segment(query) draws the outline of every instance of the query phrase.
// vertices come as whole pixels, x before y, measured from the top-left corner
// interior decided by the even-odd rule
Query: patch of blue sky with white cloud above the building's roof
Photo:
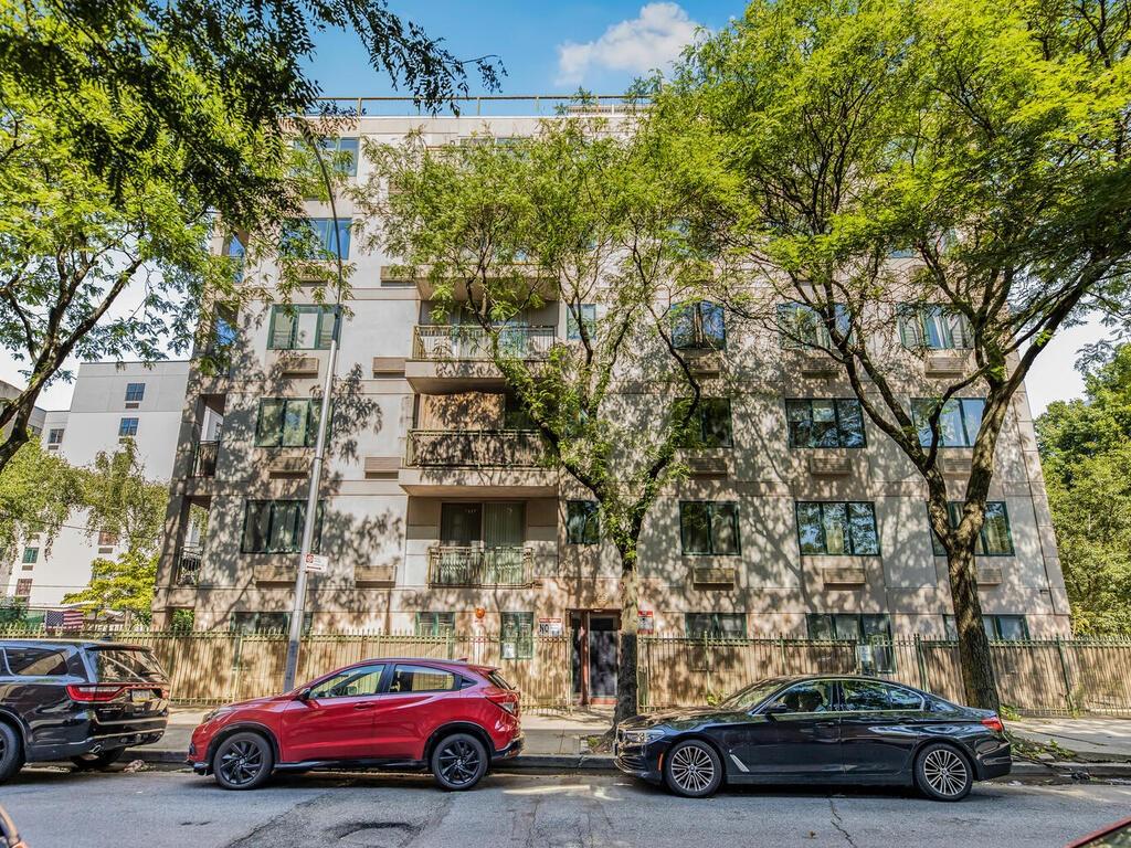
[[[743,8],[741,0],[390,2],[461,59],[499,54],[508,73],[502,94],[568,94],[579,85],[620,94],[639,73],[666,64],[696,25],[717,29]],[[397,94],[352,34],[323,33],[311,69],[327,96]],[[473,93],[483,93],[478,79],[472,81]]]

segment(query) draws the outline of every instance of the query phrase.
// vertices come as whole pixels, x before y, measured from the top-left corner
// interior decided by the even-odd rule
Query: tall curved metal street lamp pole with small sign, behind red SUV
[[[322,383],[322,412],[318,416],[318,439],[314,442],[314,460],[310,464],[310,491],[307,494],[307,514],[302,526],[302,546],[299,553],[299,572],[294,580],[294,607],[291,611],[291,630],[286,644],[286,666],[283,672],[283,691],[294,689],[294,678],[299,673],[299,647],[302,641],[302,621],[307,611],[307,555],[314,546],[314,527],[318,521],[318,494],[322,482],[322,457],[326,452],[326,432],[330,423],[330,393],[334,390],[334,372],[338,362],[338,338],[342,332],[342,233],[338,227],[338,211],[334,205],[334,188],[330,185],[330,174],[326,170],[318,139],[308,138],[318,166],[322,172],[322,183],[330,199],[330,216],[334,219],[334,243],[338,265],[338,293],[334,304],[334,334],[330,337],[330,358],[326,367],[326,380]]]

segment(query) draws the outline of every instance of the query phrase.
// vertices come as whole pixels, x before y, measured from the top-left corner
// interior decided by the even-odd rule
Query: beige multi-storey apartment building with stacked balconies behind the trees
[[[423,124],[429,144],[484,128],[535,129],[525,118],[363,118],[355,137],[397,141]],[[342,149],[357,149],[356,138]],[[356,178],[366,163],[356,163]],[[329,210],[309,215],[330,241]],[[352,217],[348,201],[338,204]],[[592,499],[539,462],[484,337],[433,309],[424,280],[398,279],[389,258],[344,241],[356,269],[340,334],[334,415],[318,518],[330,559],[311,576],[316,631],[498,634],[503,658],[534,633],[575,634],[579,693],[615,686],[619,563]],[[217,250],[227,245],[217,243]],[[303,298],[300,297],[300,304]],[[777,336],[728,327],[715,304],[680,341],[703,348],[710,398],[690,476],[665,492],[641,538],[645,632],[882,638],[952,630],[946,560],[927,525],[925,487],[877,431],[844,378],[820,355]],[[552,297],[512,328],[525,356],[576,334]],[[901,391],[916,408],[964,367],[961,328],[944,315],[901,315],[933,353],[908,358]],[[293,603],[318,395],[330,319],[257,304],[225,334],[231,367],[193,367],[171,488],[154,605],[196,628],[282,629]],[[917,335],[916,335],[917,334]],[[624,401],[631,408],[631,398]],[[968,470],[981,400],[946,414],[955,500]],[[207,422],[223,421],[223,435]],[[1026,397],[1018,395],[996,457],[978,574],[995,638],[1067,633],[1069,607]],[[207,535],[187,540],[195,512]],[[581,681],[584,680],[584,683]]]

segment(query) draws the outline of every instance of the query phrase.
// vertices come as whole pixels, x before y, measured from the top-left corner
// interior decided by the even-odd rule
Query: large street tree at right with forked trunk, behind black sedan
[[[748,274],[725,300],[831,357],[922,476],[979,707],[998,696],[975,550],[1005,416],[1059,330],[1128,303],[1129,12],[754,0],[658,97],[693,230]],[[914,357],[939,348],[966,353],[961,373],[924,383]],[[909,405],[915,380],[930,391]],[[955,444],[972,448],[957,487]]]

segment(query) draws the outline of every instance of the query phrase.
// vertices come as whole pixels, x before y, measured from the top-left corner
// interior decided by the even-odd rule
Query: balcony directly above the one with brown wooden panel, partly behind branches
[[[544,360],[556,341],[553,327],[515,326],[499,330],[504,355],[527,362]],[[417,326],[413,328],[413,355],[405,363],[405,379],[416,391],[447,392],[467,388],[503,388],[495,367],[492,334],[473,326]]]

